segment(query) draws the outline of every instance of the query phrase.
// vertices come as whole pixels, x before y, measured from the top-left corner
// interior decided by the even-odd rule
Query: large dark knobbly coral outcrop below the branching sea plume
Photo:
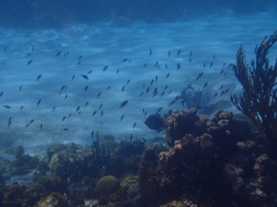
[[[276,205],[277,165],[266,139],[247,121],[222,110],[209,117],[191,108],[174,111],[164,122],[171,148],[156,158],[142,158],[140,165],[140,184],[142,189],[151,186],[150,200],[186,197],[204,206]],[[148,151],[147,157],[153,154]]]

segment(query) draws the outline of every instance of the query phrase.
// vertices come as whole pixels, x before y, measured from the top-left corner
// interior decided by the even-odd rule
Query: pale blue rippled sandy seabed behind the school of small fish
[[[235,93],[239,92],[242,87],[228,65],[235,63],[240,44],[247,60],[254,59],[256,44],[275,32],[276,18],[277,13],[207,17],[176,23],[136,22],[129,28],[103,22],[59,31],[1,28],[0,151],[23,145],[28,154],[38,155],[52,143],[90,146],[92,131],[94,138],[99,132],[100,142],[103,135],[129,139],[132,134],[150,143],[154,137],[165,137],[165,131],[147,128],[145,118],[158,107],[161,115],[168,110],[182,111],[182,100],[170,105],[182,89],[192,84],[194,90],[203,90],[206,82],[220,76],[222,70],[227,73],[216,87],[236,83]],[[275,45],[270,64],[275,64],[276,53]],[[66,89],[61,91],[63,85]],[[155,89],[158,93],[153,97]],[[121,108],[125,100],[129,102]],[[235,107],[228,110],[238,113]]]

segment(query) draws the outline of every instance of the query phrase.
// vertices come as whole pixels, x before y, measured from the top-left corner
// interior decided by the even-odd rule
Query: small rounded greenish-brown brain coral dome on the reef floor
[[[99,195],[110,195],[115,193],[120,188],[120,182],[116,177],[106,175],[99,179],[95,192]]]

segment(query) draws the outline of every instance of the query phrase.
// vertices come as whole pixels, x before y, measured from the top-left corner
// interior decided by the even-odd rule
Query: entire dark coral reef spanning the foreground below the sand
[[[277,205],[277,164],[266,136],[247,121],[223,110],[209,117],[186,108],[164,123],[170,147],[103,136],[93,147],[53,145],[48,158],[22,159],[19,146],[16,161],[37,161],[40,170],[47,161],[50,173],[30,184],[2,182],[3,206],[73,207],[88,199],[99,207]]]

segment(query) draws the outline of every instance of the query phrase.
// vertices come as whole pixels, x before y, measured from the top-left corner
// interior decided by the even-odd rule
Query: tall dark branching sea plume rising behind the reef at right
[[[243,85],[239,95],[232,95],[230,101],[243,112],[265,135],[277,143],[277,62],[269,65],[268,50],[277,41],[277,31],[256,45],[256,61],[245,61],[244,46],[237,51],[236,64],[233,70]]]

